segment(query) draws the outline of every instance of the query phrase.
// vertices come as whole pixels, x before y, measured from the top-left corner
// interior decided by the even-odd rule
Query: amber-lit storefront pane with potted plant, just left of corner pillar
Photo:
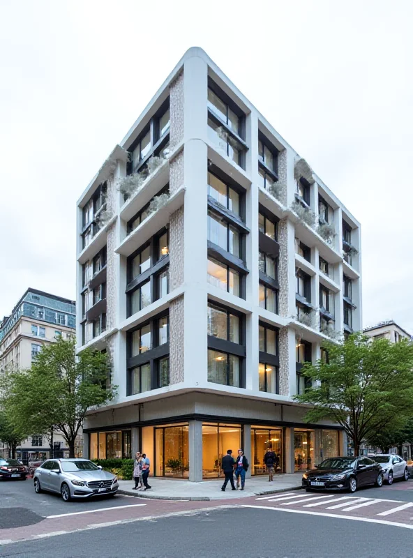
[[[155,428],[156,476],[189,477],[188,424]]]

